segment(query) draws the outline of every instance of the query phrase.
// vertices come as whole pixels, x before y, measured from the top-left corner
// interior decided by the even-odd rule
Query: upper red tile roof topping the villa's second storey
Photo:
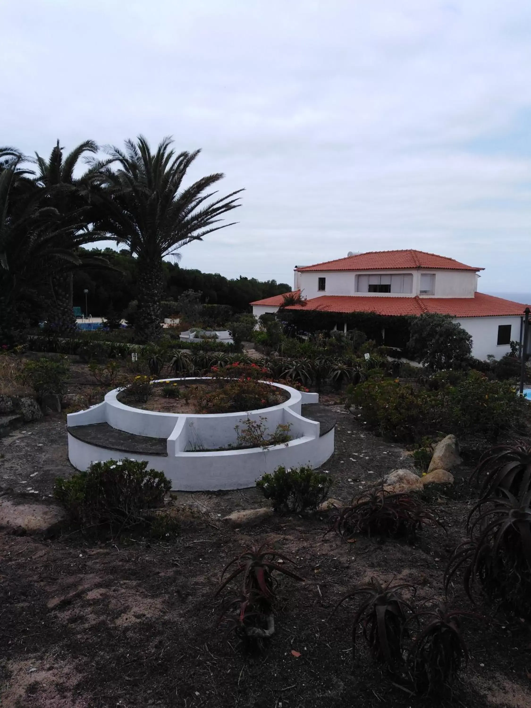
[[[426,251],[369,251],[359,253],[358,256],[338,258],[336,261],[325,261],[315,265],[301,265],[295,270],[301,273],[307,270],[412,270],[429,268],[430,270],[484,270],[474,268],[472,265],[459,263],[453,258],[436,256],[435,253]]]

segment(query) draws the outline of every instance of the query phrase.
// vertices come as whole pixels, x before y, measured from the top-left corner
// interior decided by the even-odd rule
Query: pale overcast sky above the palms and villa
[[[531,292],[529,0],[0,0],[0,144],[202,148],[239,223],[181,265],[415,248]],[[232,216],[231,215],[231,216]]]

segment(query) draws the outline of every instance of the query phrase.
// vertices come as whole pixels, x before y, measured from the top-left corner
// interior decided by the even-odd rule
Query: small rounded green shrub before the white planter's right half
[[[315,510],[328,496],[332,480],[311,467],[286,469],[277,467],[273,474],[264,474],[256,486],[275,511]]]

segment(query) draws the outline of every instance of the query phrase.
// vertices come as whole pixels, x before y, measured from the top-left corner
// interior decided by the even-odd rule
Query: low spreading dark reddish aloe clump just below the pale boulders
[[[425,524],[442,524],[437,516],[408,493],[390,494],[373,489],[353,499],[338,512],[331,530],[343,538],[367,534],[412,540]]]

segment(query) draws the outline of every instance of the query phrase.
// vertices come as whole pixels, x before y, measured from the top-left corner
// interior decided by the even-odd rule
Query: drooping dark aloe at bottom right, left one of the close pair
[[[411,585],[395,585],[390,583],[382,587],[381,583],[372,579],[370,585],[359,586],[339,600],[333,612],[339,605],[350,598],[362,597],[362,603],[354,615],[352,628],[352,658],[355,662],[356,635],[358,627],[369,646],[372,658],[384,663],[391,671],[396,671],[402,663],[402,641],[409,636],[407,622],[412,612],[411,605],[399,595],[403,588],[415,588]]]

